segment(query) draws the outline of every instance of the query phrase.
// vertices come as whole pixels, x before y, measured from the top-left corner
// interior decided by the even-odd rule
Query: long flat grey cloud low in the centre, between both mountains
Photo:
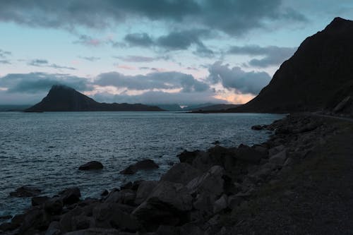
[[[210,88],[193,76],[178,72],[156,72],[138,76],[126,76],[116,72],[101,73],[94,84],[128,90],[181,89],[181,92],[203,92]]]

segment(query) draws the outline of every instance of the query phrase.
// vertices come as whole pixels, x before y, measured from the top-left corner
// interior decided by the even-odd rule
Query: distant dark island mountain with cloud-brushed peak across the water
[[[145,104],[100,103],[66,85],[53,85],[41,102],[25,109],[25,112],[56,111],[163,111],[163,109]]]

